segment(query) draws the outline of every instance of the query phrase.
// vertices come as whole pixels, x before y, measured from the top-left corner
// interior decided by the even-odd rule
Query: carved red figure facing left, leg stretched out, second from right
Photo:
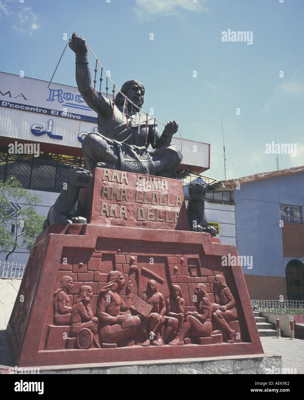
[[[186,336],[206,338],[212,334],[212,303],[208,296],[206,285],[203,283],[197,284],[194,294],[197,296],[197,311],[186,312],[177,338],[169,343],[171,346],[182,346]]]

